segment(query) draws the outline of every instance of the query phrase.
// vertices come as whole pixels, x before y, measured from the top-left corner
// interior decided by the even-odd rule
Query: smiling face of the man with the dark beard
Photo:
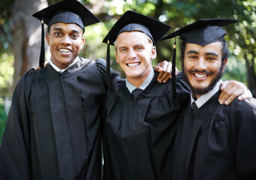
[[[183,71],[195,98],[200,98],[212,90],[220,80],[227,63],[227,59],[222,63],[221,55],[221,42],[209,43],[206,46],[186,43]]]

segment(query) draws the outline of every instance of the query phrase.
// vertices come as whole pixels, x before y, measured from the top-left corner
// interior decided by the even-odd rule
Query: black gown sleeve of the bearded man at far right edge
[[[256,99],[236,100],[227,119],[238,179],[256,179]]]

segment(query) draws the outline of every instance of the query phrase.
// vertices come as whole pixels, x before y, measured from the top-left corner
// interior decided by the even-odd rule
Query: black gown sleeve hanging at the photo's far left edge
[[[32,70],[33,71],[33,70]],[[30,179],[30,142],[28,101],[32,71],[14,89],[8,121],[0,147],[1,179]]]

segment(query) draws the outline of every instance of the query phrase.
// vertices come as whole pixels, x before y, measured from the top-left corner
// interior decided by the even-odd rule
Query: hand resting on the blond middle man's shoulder
[[[178,69],[176,69],[175,74],[177,75],[179,73]],[[172,63],[171,62],[160,62],[158,65],[154,67],[155,71],[158,71],[158,82],[159,83],[166,83],[167,80],[170,80],[171,74],[172,74]]]

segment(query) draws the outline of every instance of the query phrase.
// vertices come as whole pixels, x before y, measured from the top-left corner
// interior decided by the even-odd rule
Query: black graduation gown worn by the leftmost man
[[[75,179],[81,172],[101,179],[105,82],[104,60],[80,58],[62,74],[50,65],[25,74],[0,148],[0,179]]]

